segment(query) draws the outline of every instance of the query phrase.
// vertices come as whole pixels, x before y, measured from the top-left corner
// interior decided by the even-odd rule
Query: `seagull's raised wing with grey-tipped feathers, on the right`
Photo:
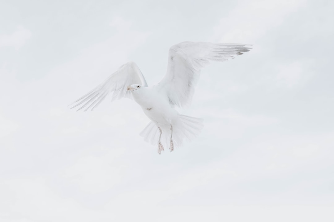
[[[169,49],[167,73],[159,83],[172,106],[191,103],[200,70],[210,61],[227,61],[248,52],[246,44],[182,42]]]

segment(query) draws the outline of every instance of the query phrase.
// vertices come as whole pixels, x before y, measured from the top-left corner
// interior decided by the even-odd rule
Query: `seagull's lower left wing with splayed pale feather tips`
[[[146,80],[134,62],[128,62],[122,65],[115,73],[113,73],[103,83],[93,89],[91,92],[76,100],[72,108],[80,106],[77,110],[85,108],[85,111],[97,107],[108,94],[112,95],[112,100],[129,97],[130,92],[127,91],[127,86],[140,84],[147,87]]]

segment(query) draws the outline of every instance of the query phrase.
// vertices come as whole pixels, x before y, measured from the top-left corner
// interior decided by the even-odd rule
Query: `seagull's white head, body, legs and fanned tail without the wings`
[[[158,153],[164,150],[162,144],[169,143],[170,151],[174,145],[181,145],[184,137],[196,136],[202,128],[199,118],[181,115],[170,104],[166,94],[158,86],[140,87],[140,85],[129,86],[132,90],[133,99],[142,108],[147,117],[152,121],[141,132],[146,141],[155,144],[158,141]],[[154,124],[152,124],[154,123]],[[153,127],[152,126],[157,126]],[[147,132],[145,132],[147,131]],[[174,132],[174,137],[172,134]]]

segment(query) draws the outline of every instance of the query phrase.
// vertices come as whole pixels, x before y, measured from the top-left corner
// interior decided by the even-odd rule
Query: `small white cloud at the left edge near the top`
[[[18,50],[30,37],[31,32],[28,29],[19,26],[16,31],[10,35],[0,35],[0,48],[14,47],[15,50]]]

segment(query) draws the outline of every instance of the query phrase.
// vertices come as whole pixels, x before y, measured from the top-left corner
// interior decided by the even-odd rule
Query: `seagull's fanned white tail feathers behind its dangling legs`
[[[182,145],[184,138],[187,138],[190,141],[201,132],[203,128],[203,119],[178,114],[177,117],[172,120],[172,126],[174,147],[179,147]],[[160,126],[160,128],[162,129],[161,143],[168,149],[170,144],[171,127],[170,125],[165,125]],[[158,145],[160,133],[158,126],[152,121],[149,122],[143,131],[141,131],[140,135],[144,137],[145,141],[152,145]]]

